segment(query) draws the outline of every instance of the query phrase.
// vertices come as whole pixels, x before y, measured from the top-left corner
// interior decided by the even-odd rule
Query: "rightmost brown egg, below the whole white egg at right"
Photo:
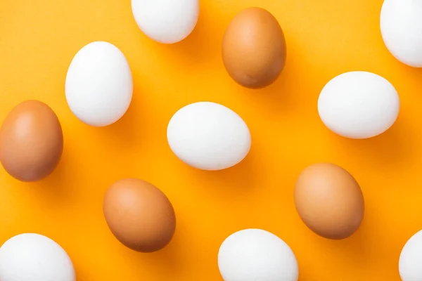
[[[329,239],[352,235],[364,218],[364,196],[357,181],[334,164],[313,164],[295,185],[300,218],[314,233]]]

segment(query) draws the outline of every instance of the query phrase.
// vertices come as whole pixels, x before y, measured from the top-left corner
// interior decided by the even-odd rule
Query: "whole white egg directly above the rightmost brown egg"
[[[399,115],[394,86],[371,72],[346,72],[322,89],[318,112],[331,131],[346,138],[371,138],[388,130]]]

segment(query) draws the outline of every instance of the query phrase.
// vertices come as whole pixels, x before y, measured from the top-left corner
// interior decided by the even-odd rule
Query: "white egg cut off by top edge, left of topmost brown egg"
[[[188,37],[195,28],[199,0],[132,0],[132,13],[146,36],[173,44]]]

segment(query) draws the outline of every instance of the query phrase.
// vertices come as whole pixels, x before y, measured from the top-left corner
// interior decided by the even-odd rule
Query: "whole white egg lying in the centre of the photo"
[[[167,126],[167,141],[181,161],[203,170],[241,162],[250,150],[250,131],[233,110],[218,103],[192,103],[177,111]]]

